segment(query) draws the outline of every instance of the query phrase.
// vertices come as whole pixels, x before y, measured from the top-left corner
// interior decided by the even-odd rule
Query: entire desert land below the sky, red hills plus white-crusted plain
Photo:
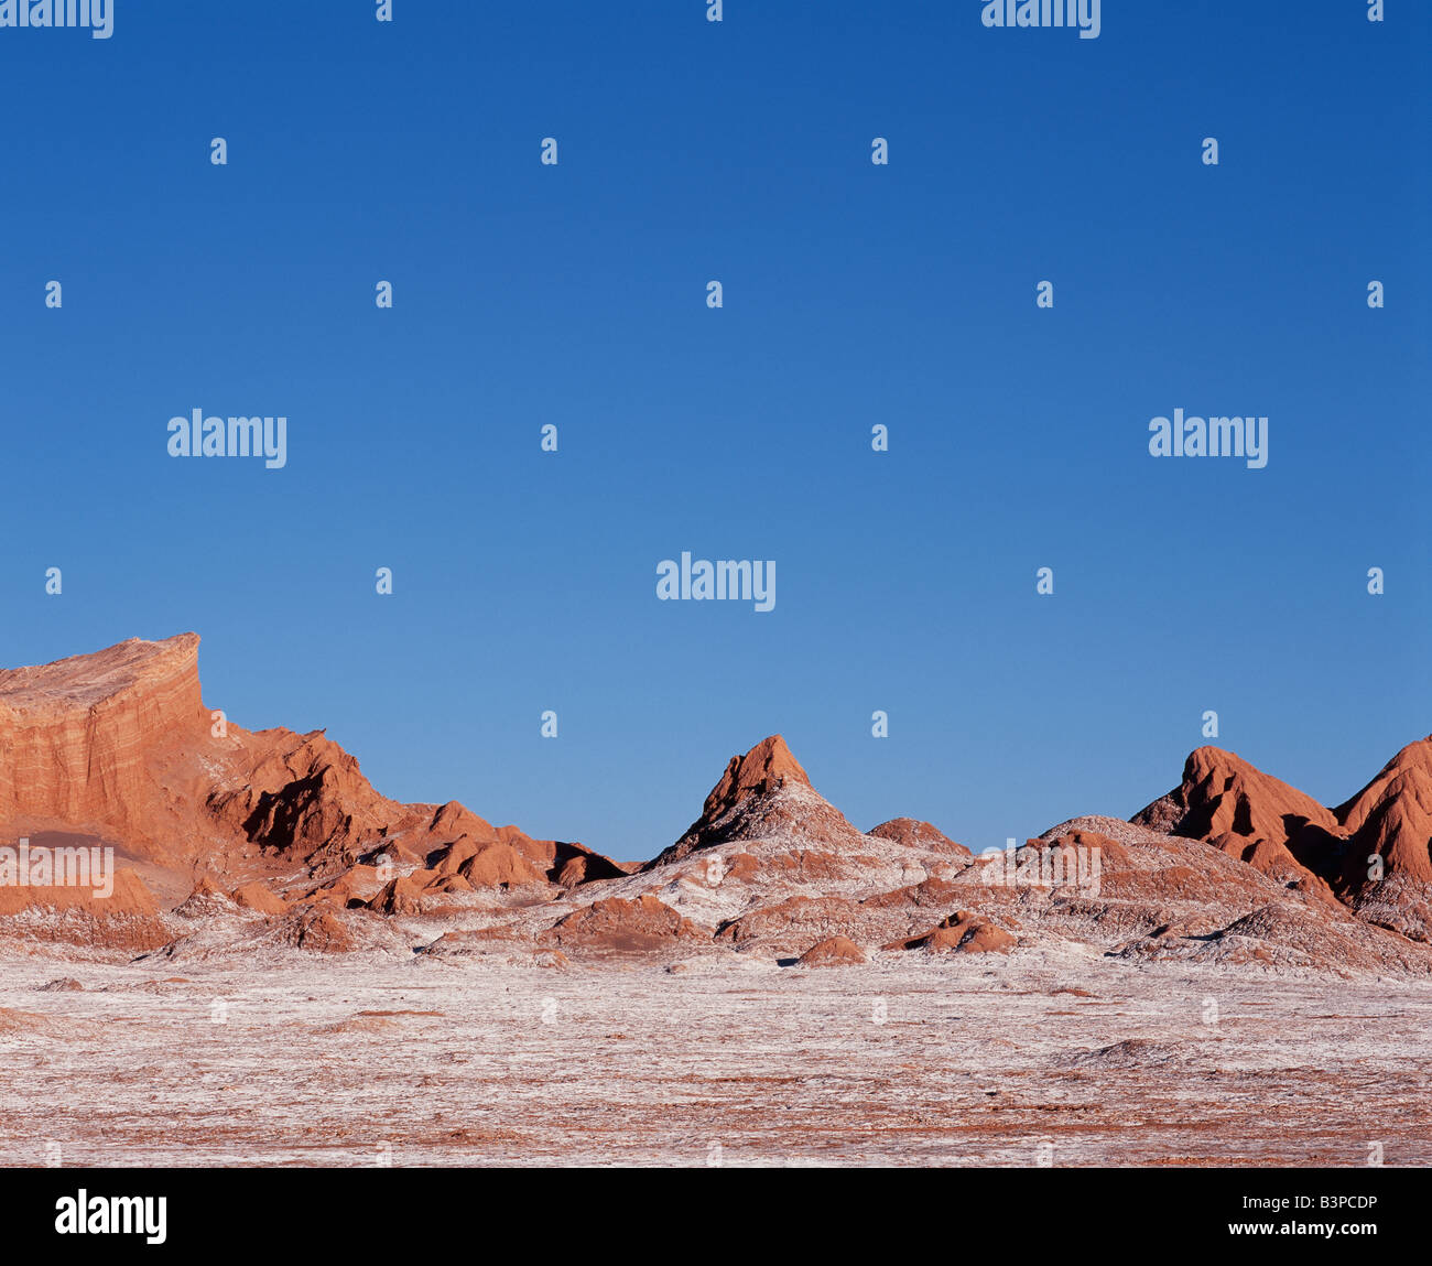
[[[1432,739],[975,856],[772,735],[617,862],[226,722],[198,649],[0,672],[3,1164],[1432,1163]]]

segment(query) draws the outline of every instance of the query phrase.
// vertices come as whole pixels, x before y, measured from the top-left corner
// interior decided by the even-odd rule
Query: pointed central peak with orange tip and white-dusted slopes
[[[726,772],[706,796],[702,816],[642,869],[652,871],[697,849],[736,839],[783,838],[825,846],[862,839],[845,815],[811,786],[786,740],[770,735],[745,755],[730,758]]]

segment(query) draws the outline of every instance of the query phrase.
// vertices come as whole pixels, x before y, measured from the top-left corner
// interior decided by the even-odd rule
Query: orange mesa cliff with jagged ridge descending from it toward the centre
[[[329,904],[371,895],[358,879],[378,858],[457,872],[471,889],[621,874],[581,845],[493,828],[455,802],[388,799],[321,730],[216,728],[193,633],[0,672],[0,844],[47,832],[117,845],[163,888],[215,875]],[[9,904],[59,912],[72,901],[17,888]]]

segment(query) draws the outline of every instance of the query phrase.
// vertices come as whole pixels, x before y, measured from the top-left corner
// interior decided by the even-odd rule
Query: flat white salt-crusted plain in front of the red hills
[[[180,971],[7,955],[0,1164],[1432,1164],[1416,981],[1080,947]]]

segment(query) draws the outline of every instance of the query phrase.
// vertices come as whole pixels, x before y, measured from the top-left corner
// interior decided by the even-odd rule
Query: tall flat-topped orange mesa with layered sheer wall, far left
[[[0,821],[53,818],[143,838],[153,750],[206,732],[195,633],[3,670]]]

